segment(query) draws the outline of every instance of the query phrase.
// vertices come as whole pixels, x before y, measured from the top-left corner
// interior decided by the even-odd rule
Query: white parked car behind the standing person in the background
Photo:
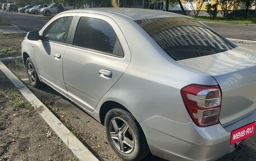
[[[64,11],[75,9],[74,6],[64,6],[62,3],[59,3],[58,5],[60,5]],[[48,7],[42,8],[40,10],[40,14],[43,14],[44,16],[51,16],[51,14],[58,13],[58,8],[60,7],[58,7],[55,3],[52,3]]]

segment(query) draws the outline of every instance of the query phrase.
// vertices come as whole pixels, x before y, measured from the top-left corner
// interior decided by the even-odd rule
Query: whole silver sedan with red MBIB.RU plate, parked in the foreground
[[[254,135],[256,53],[187,16],[62,12],[27,34],[22,58],[31,84],[102,123],[124,160],[215,160]]]

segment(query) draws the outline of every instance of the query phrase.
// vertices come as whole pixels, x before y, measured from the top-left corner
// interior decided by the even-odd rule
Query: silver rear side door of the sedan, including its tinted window
[[[130,63],[124,35],[106,16],[81,13],[63,58],[67,95],[93,111]]]

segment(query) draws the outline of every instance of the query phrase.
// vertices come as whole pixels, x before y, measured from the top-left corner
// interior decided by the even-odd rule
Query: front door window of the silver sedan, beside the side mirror
[[[53,42],[66,43],[73,17],[61,17],[52,22],[45,30],[43,39]]]

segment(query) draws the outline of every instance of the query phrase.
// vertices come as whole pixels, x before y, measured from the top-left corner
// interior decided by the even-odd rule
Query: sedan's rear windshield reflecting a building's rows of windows
[[[136,21],[176,61],[225,52],[235,47],[199,22],[180,17]]]

